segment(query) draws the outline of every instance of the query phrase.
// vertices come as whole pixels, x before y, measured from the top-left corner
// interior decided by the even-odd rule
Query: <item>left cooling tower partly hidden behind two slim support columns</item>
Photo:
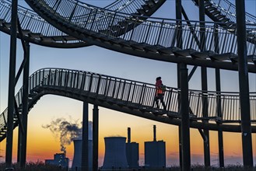
[[[93,168],[93,141],[88,140],[89,145],[89,170]],[[82,140],[74,140],[74,157],[72,162],[72,169],[81,170],[81,162],[82,162]]]

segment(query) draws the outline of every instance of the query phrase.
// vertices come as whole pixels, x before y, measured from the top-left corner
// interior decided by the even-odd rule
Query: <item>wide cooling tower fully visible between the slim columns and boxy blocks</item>
[[[128,169],[125,137],[106,137],[102,169]]]

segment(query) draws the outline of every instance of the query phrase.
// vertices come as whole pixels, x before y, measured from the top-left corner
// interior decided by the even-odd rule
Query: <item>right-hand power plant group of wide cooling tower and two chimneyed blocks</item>
[[[131,141],[131,128],[128,127],[128,140],[124,137],[106,137],[105,156],[102,169],[138,169],[139,143]],[[165,141],[156,141],[156,125],[153,126],[153,141],[145,142],[145,166],[150,169],[166,167]]]

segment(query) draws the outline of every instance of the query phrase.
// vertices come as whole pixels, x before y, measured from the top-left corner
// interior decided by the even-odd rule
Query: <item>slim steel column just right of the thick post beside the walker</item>
[[[199,19],[200,19],[200,49],[205,51],[205,2],[204,0],[199,0]],[[201,80],[202,80],[202,92],[207,92],[207,68],[201,68]],[[208,117],[208,99],[207,96],[203,95],[203,117]],[[204,120],[207,122],[206,120]],[[205,137],[208,141],[204,141],[204,157],[205,157],[205,167],[210,166],[210,145],[209,145],[209,130],[204,130]]]

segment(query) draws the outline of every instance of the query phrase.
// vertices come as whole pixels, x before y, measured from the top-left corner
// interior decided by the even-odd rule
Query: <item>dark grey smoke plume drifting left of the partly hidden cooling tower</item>
[[[89,121],[89,134],[88,139],[92,139],[93,122]],[[58,118],[51,120],[51,124],[42,125],[42,127],[50,129],[55,138],[59,138],[61,143],[61,152],[66,152],[66,145],[70,145],[74,139],[82,139],[82,122],[67,121],[65,118]]]

